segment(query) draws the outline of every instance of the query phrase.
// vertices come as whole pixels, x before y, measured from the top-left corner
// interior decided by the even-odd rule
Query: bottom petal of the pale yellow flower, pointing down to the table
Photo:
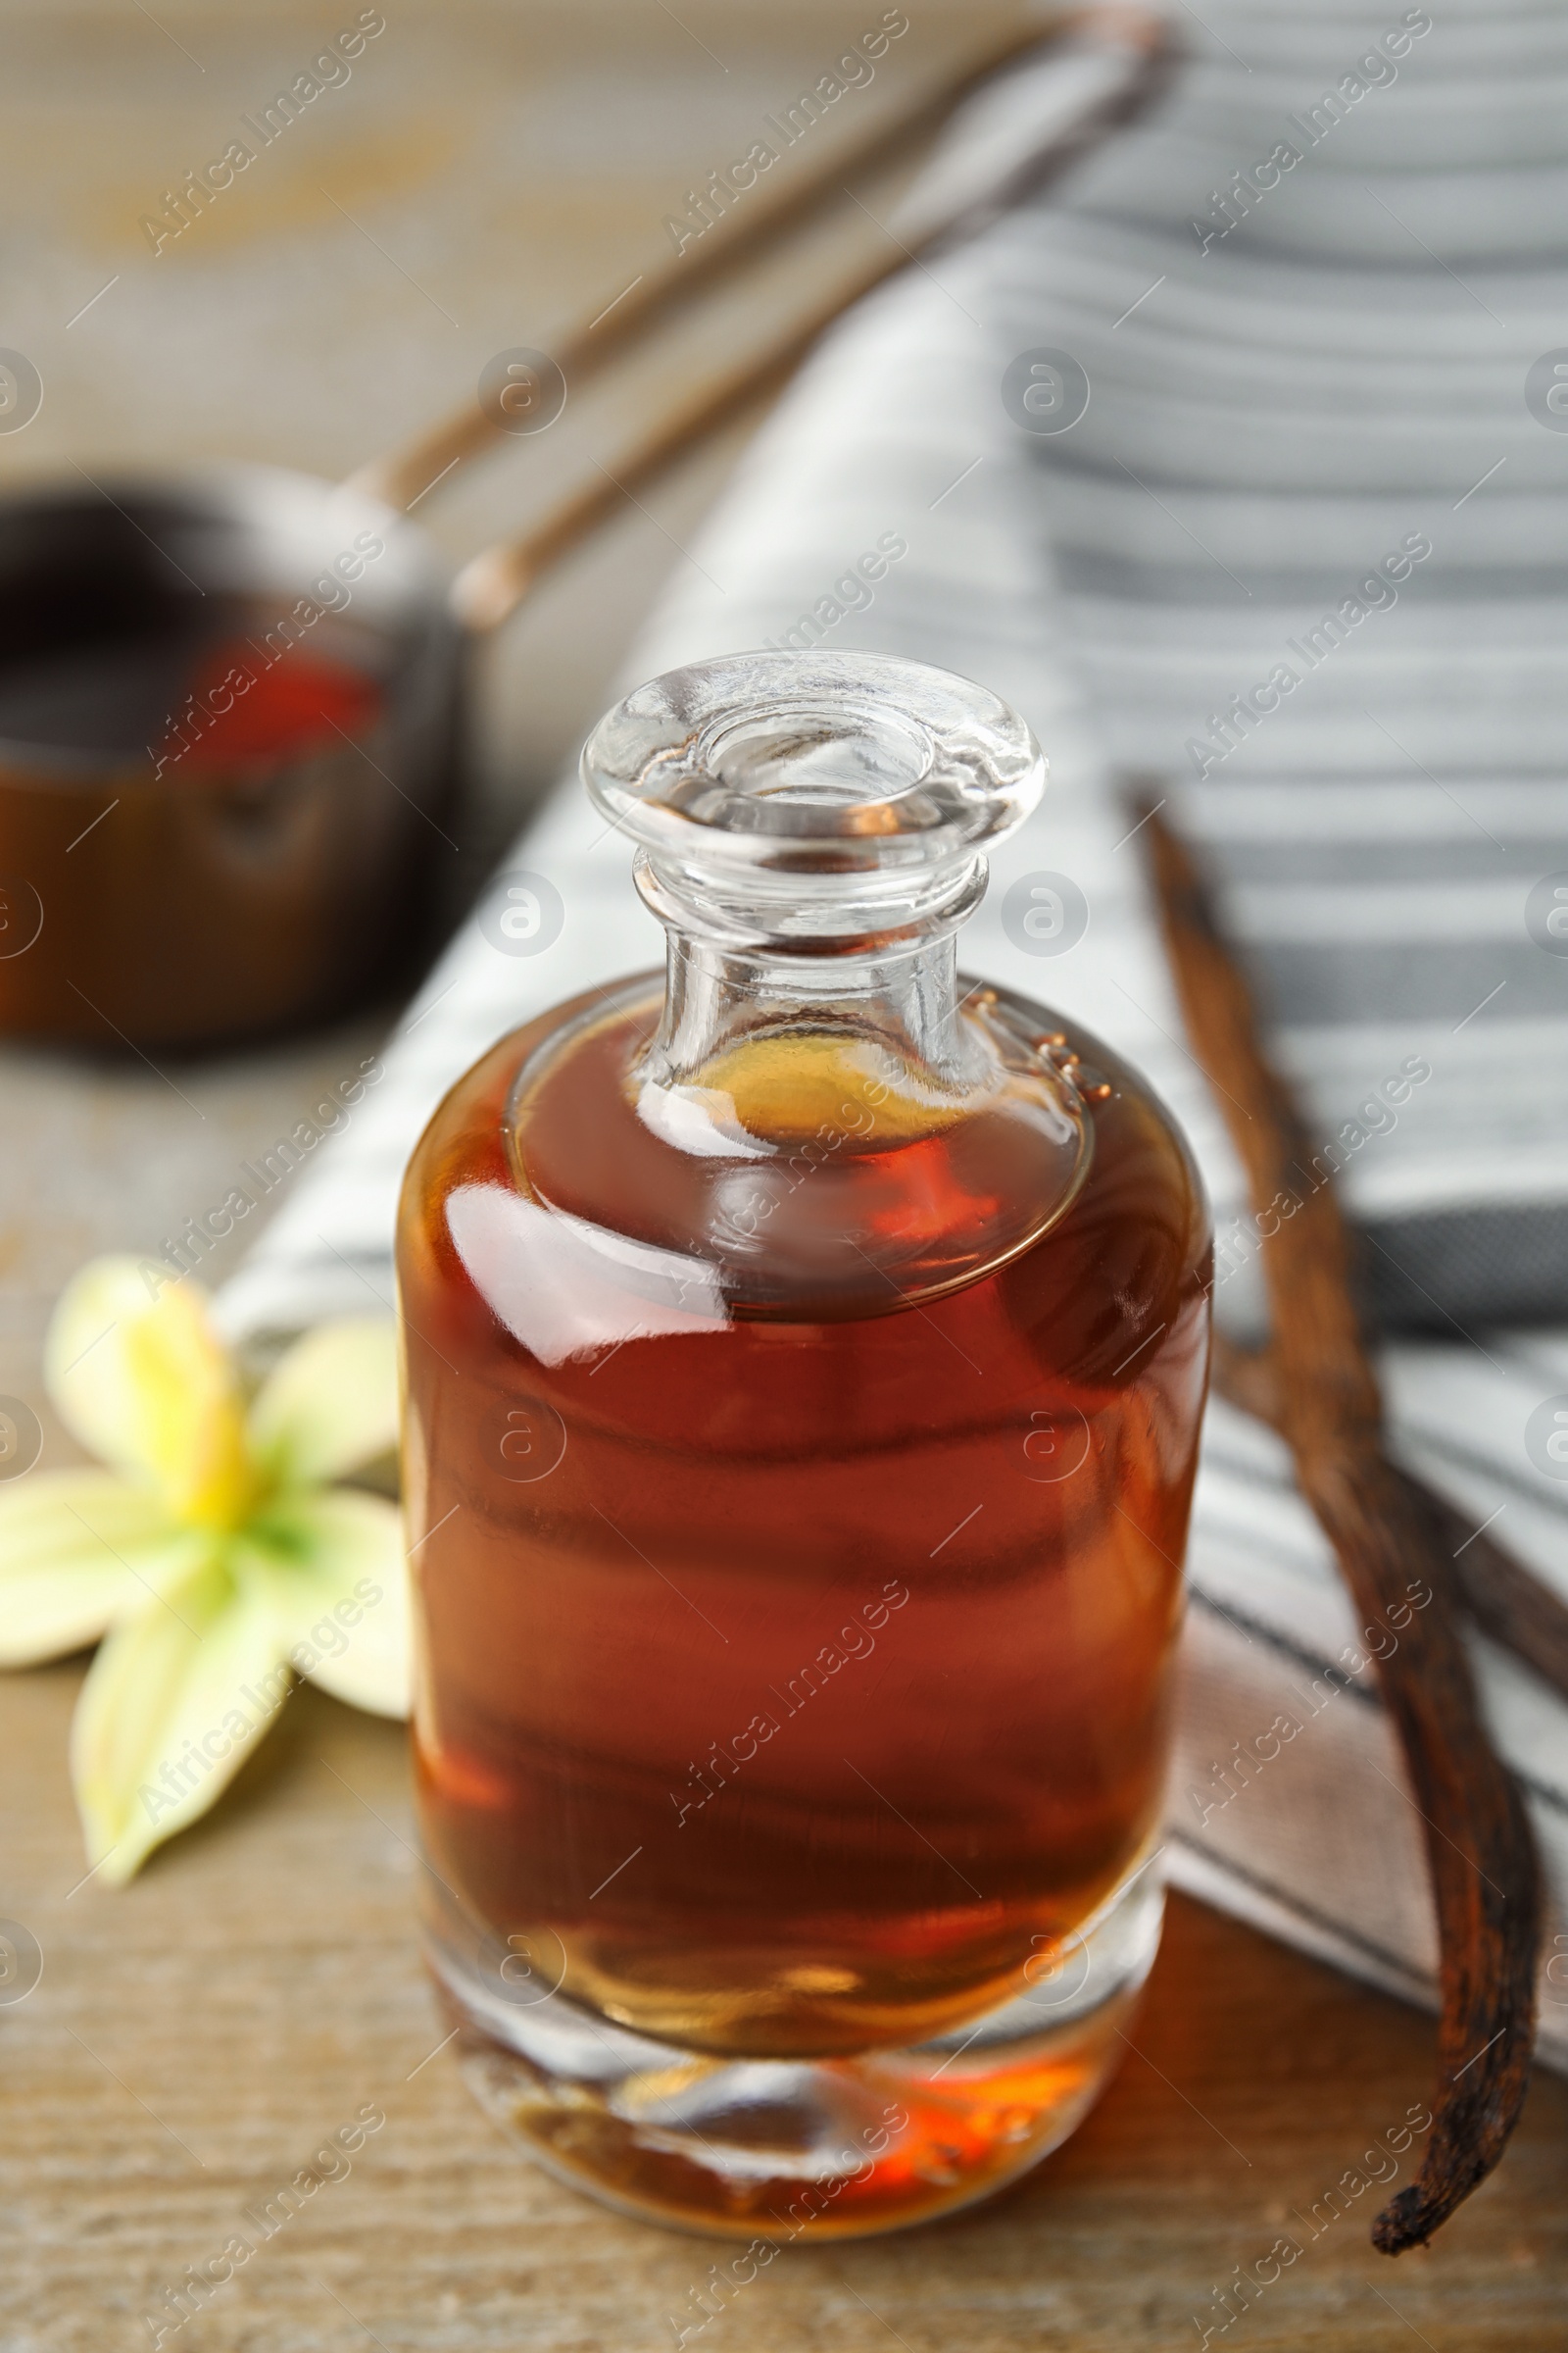
[[[259,1581],[221,1551],[108,1635],[71,1727],[87,1857],[125,1887],[153,1847],[205,1814],[289,1692]]]

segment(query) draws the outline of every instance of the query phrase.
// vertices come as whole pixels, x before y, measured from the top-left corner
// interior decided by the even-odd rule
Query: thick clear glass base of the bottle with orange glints
[[[1161,1918],[1145,1864],[1041,1984],[853,2059],[686,2052],[562,1993],[510,1998],[442,1922],[428,1951],[480,2106],[545,2172],[642,2221],[790,2245],[952,2214],[1058,2148],[1121,2059]]]

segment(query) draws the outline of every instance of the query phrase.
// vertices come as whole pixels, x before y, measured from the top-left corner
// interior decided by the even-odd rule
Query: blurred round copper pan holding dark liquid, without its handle
[[[350,725],[214,755],[183,696],[237,642],[273,685],[357,682]],[[233,466],[0,501],[0,1033],[207,1047],[388,981],[451,856],[461,671],[430,541],[357,492]]]

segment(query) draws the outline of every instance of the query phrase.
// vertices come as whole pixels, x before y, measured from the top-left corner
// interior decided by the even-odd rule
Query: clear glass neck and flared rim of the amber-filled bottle
[[[933,1111],[994,1082],[952,936],[1046,762],[985,687],[898,654],[722,654],[616,704],[583,776],[670,934],[644,1080],[705,1085],[755,1040],[750,1071],[823,1089],[835,1056],[884,1054]]]

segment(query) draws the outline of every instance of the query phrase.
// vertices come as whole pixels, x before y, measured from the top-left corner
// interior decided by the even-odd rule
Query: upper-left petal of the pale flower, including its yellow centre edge
[[[45,1379],[73,1435],[181,1518],[226,1527],[249,1504],[240,1381],[197,1282],[92,1259],[54,1311]]]

